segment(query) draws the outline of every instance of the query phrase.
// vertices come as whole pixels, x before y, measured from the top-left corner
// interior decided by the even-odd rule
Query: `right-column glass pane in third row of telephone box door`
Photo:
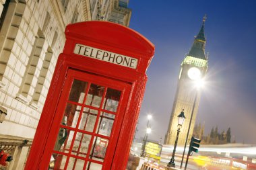
[[[94,137],[93,148],[90,153],[90,159],[103,162],[108,147],[108,139]]]

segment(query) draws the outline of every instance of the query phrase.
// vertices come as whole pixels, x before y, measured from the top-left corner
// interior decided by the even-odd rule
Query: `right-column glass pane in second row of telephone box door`
[[[105,112],[102,112],[100,114],[100,121],[99,126],[97,127],[98,134],[102,134],[104,136],[110,136],[112,127],[114,124],[115,115],[114,114],[108,114]]]

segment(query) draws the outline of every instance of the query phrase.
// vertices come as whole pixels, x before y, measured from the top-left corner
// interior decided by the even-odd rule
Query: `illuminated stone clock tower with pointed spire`
[[[188,139],[190,139],[193,134],[200,99],[200,91],[195,87],[195,84],[203,79],[207,71],[207,56],[205,56],[206,39],[204,35],[205,19],[206,17],[203,17],[201,30],[199,34],[195,36],[189,53],[181,63],[177,91],[172,106],[168,130],[164,138],[164,144],[174,144],[178,130],[178,116],[183,109],[186,119],[179,134],[178,145],[185,144],[191,116],[192,120]]]

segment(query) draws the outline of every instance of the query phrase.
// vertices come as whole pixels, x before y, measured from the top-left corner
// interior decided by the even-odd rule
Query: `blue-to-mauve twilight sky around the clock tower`
[[[197,122],[205,122],[205,134],[230,127],[232,140],[256,144],[256,1],[130,0],[129,8],[129,27],[156,46],[136,138],[144,136],[150,113],[150,139],[164,140],[180,65],[206,13],[209,60]]]

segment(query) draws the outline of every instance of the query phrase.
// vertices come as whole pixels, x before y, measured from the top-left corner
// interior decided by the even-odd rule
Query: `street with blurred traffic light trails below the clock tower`
[[[141,143],[134,143],[133,148],[137,148],[137,151],[132,150],[131,153],[138,155],[139,147]],[[162,148],[161,159],[158,163],[159,167],[166,167],[170,162],[173,146],[164,145]],[[174,163],[176,168],[180,168],[182,159],[183,147],[177,147],[177,153],[174,156]],[[189,170],[255,170],[256,163],[256,147],[245,144],[229,144],[220,146],[201,146],[199,153],[193,153],[189,157],[187,169]],[[185,169],[187,153],[183,160],[183,167]],[[146,157],[145,161],[157,162],[156,160]],[[141,168],[141,167],[138,167]]]

